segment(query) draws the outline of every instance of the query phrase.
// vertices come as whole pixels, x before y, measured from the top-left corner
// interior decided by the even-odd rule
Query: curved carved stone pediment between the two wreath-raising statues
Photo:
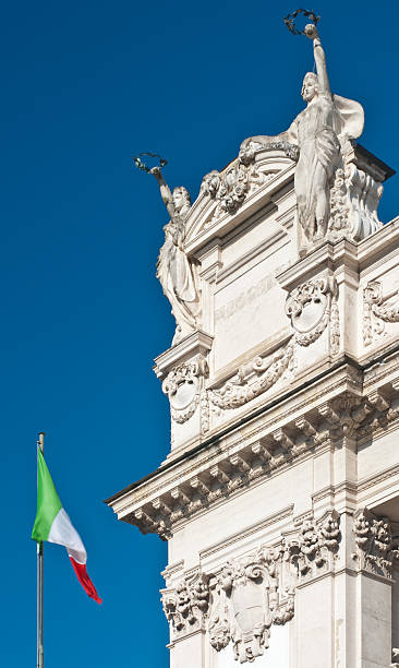
[[[249,216],[249,208],[264,206],[292,179],[294,165],[285,151],[261,147],[250,159],[238,156],[221,171],[207,174],[186,218],[186,252],[195,252],[210,237],[222,237]]]

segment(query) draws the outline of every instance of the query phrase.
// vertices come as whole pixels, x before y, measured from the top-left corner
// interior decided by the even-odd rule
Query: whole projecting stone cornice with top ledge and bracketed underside
[[[275,406],[252,410],[107,503],[123,522],[168,539],[194,515],[226,503],[295,461],[323,448],[334,450],[342,439],[378,438],[398,418],[399,374],[382,379],[380,385],[374,379],[368,396],[361,370],[344,362]]]

